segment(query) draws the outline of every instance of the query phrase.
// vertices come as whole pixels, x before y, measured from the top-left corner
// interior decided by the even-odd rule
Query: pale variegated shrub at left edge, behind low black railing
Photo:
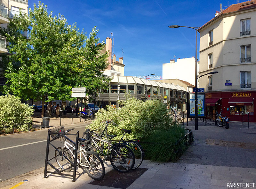
[[[0,96],[0,127],[23,124],[32,121],[33,110],[32,107],[28,107],[27,104],[22,104],[19,97],[12,95]],[[20,125],[19,131],[27,131],[28,125]],[[4,128],[0,128],[0,131],[5,131]],[[6,129],[9,132],[9,129]]]

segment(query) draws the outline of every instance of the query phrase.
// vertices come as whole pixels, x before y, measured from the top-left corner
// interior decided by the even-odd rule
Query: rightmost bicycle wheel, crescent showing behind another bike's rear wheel
[[[134,154],[135,163],[134,163],[132,170],[135,170],[138,167],[140,167],[140,165],[143,161],[144,150],[143,150],[142,146],[140,146],[140,144],[136,141],[125,141],[125,143],[128,144],[128,147],[131,148],[131,150]]]

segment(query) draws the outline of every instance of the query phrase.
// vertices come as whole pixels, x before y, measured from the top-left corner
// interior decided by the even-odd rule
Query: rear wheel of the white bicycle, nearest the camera
[[[84,167],[84,169],[89,177],[93,178],[94,180],[101,180],[104,177],[105,166],[100,157],[94,152],[85,152],[82,156],[82,163],[83,165],[87,166]]]

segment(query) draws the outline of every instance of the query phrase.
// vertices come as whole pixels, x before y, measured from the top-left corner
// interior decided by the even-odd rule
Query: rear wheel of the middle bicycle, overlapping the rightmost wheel
[[[119,172],[131,170],[135,163],[135,157],[131,148],[120,145],[112,149],[110,153],[110,163]]]

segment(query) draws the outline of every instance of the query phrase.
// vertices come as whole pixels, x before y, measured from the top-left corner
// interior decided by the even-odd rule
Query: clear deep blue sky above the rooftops
[[[69,24],[87,32],[94,26],[98,37],[105,41],[113,32],[114,54],[124,58],[124,75],[137,76],[156,73],[162,76],[162,64],[174,56],[195,56],[195,30],[169,28],[169,25],[197,27],[214,17],[216,11],[226,9],[237,0],[191,0],[191,1],[103,1],[103,0],[42,0],[48,12],[64,15]],[[239,3],[244,0],[239,0]],[[33,9],[36,0],[28,0]],[[124,54],[122,55],[122,49]],[[199,49],[199,33],[198,33]],[[176,60],[175,59],[175,60]],[[199,53],[198,53],[199,59]],[[200,59],[199,59],[200,60]],[[181,68],[184,69],[184,68]]]

